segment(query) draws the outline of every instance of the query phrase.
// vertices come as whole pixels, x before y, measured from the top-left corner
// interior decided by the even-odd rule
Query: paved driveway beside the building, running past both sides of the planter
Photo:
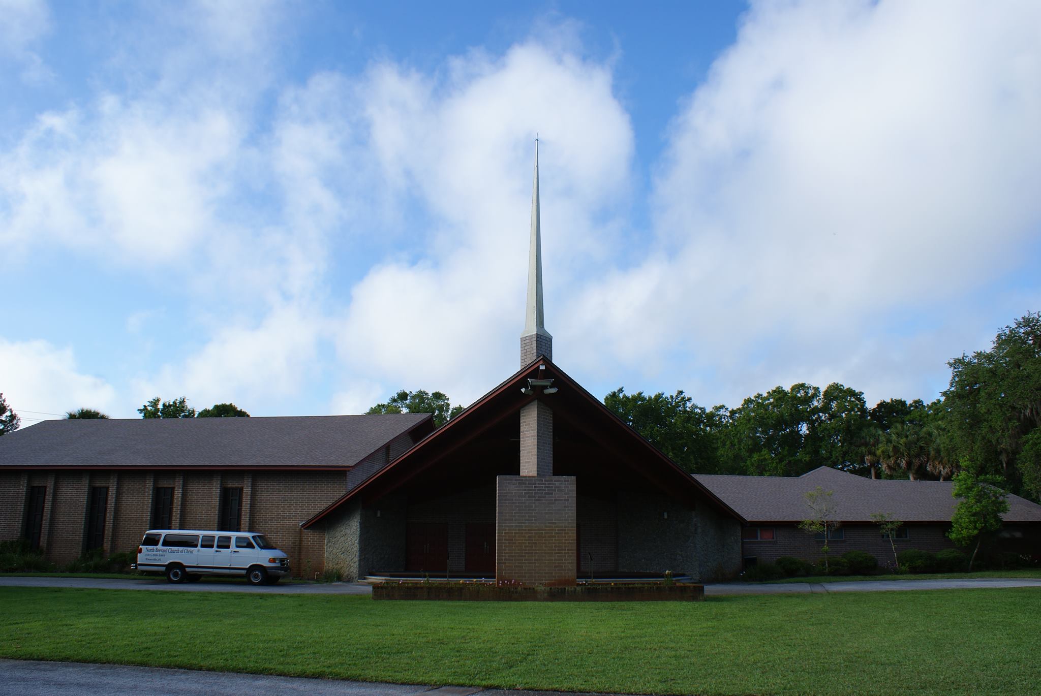
[[[182,583],[161,578],[127,577],[10,577],[0,576],[2,587],[73,587],[96,590],[176,590],[178,592],[258,592],[262,594],[371,594],[372,588],[358,583],[288,583],[247,585],[246,581]],[[705,594],[826,594],[832,592],[894,592],[902,590],[960,590],[966,588],[1041,587],[1035,577],[976,577],[969,579],[858,581],[852,583],[712,583]]]

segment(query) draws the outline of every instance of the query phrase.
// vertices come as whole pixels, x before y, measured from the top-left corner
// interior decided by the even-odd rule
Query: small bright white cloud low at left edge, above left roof
[[[23,416],[23,427],[31,419],[58,417],[47,414],[84,407],[118,415],[109,411],[116,404],[116,390],[104,379],[81,372],[72,347],[0,338],[0,389],[7,405]]]

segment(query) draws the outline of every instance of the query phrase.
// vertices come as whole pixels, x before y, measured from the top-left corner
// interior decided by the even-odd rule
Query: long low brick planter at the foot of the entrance
[[[702,585],[583,585],[579,587],[497,587],[479,583],[384,583],[373,599],[448,601],[701,601]]]

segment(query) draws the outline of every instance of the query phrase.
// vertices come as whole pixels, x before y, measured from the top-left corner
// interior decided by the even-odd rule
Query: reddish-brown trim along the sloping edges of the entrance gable
[[[667,466],[668,469],[670,469],[670,471],[674,474],[676,474],[675,478],[677,480],[677,485],[680,485],[680,486],[682,486],[682,485],[692,485],[694,490],[696,490],[700,493],[702,493],[713,505],[715,505],[718,509],[722,510],[726,514],[734,517],[735,519],[737,519],[739,521],[742,521],[742,522],[745,521],[744,518],[741,517],[737,513],[737,511],[735,511],[729,505],[727,505],[726,502],[723,502],[722,499],[720,499],[717,495],[715,495],[711,490],[709,490],[700,481],[697,481],[696,479],[694,479],[693,476],[691,476],[689,473],[687,473],[686,471],[684,471],[682,468],[680,468],[676,464],[676,462],[674,462],[668,457],[666,457],[660,449],[658,449],[653,444],[651,444],[650,442],[648,442],[646,439],[644,439],[639,433],[637,433],[635,430],[633,430],[632,427],[630,427],[627,422],[625,422],[624,420],[621,420],[621,418],[619,418],[616,414],[614,414],[610,409],[608,409],[606,406],[604,406],[604,404],[599,398],[596,398],[591,393],[589,393],[582,385],[580,385],[570,376],[568,376],[566,372],[564,372],[564,370],[560,369],[560,367],[558,367],[552,360],[550,360],[549,358],[545,358],[544,356],[538,356],[535,360],[531,361],[530,363],[528,363],[527,365],[525,365],[524,367],[522,367],[518,371],[514,372],[507,380],[505,380],[504,382],[500,383],[497,387],[494,387],[491,391],[487,392],[484,396],[482,396],[479,399],[477,399],[476,402],[474,402],[474,404],[472,404],[469,407],[467,407],[458,416],[456,416],[455,418],[453,418],[452,420],[450,420],[449,422],[445,423],[439,429],[437,429],[436,431],[434,431],[433,433],[431,433],[430,435],[428,435],[426,438],[424,438],[423,440],[421,440],[420,442],[417,442],[415,445],[413,445],[407,452],[403,453],[393,462],[390,462],[388,465],[386,465],[385,467],[383,467],[382,469],[380,469],[379,471],[377,471],[376,473],[374,473],[372,476],[370,476],[369,479],[366,479],[364,482],[362,482],[361,484],[359,484],[355,488],[352,488],[350,491],[348,491],[347,493],[345,493],[344,495],[341,495],[339,498],[337,498],[335,501],[333,501],[332,504],[330,504],[329,506],[327,506],[324,510],[322,510],[318,514],[315,514],[312,517],[310,517],[309,519],[306,519],[303,522],[301,522],[300,526],[303,527],[303,529],[310,527],[311,525],[313,525],[314,523],[319,522],[324,517],[326,517],[328,514],[330,514],[331,512],[333,512],[334,510],[336,510],[339,506],[344,505],[345,502],[347,502],[351,498],[355,497],[356,495],[361,494],[364,491],[365,488],[367,488],[370,486],[373,486],[375,483],[379,482],[383,476],[388,475],[399,465],[400,462],[402,462],[403,460],[405,460],[405,459],[407,459],[409,457],[412,457],[414,455],[414,453],[418,452],[423,447],[429,446],[429,443],[431,441],[433,441],[434,438],[441,437],[445,433],[451,432],[452,428],[459,428],[459,423],[460,422],[465,422],[465,418],[467,416],[471,416],[473,413],[477,412],[482,406],[484,406],[485,404],[489,403],[490,401],[492,401],[493,398],[496,398],[497,396],[499,396],[500,394],[502,394],[507,389],[516,388],[517,384],[519,383],[519,381],[522,379],[525,379],[528,376],[529,372],[531,372],[538,365],[543,364],[543,363],[545,365],[548,365],[549,367],[552,367],[552,371],[554,373],[554,377],[559,377],[562,382],[564,382],[569,388],[572,388],[575,391],[576,394],[578,394],[580,397],[582,397],[583,399],[585,399],[588,405],[590,405],[594,409],[599,410],[601,412],[601,414],[609,416],[610,419],[613,420],[613,422],[616,426],[620,427],[621,432],[625,432],[625,433],[628,434],[628,436],[630,438],[630,442],[632,442],[634,444],[634,446],[641,447],[641,448],[644,448],[646,450],[650,450],[651,454],[653,454],[659,461],[661,461],[663,464],[665,464],[665,466]],[[525,404],[533,401],[534,398],[535,398],[535,396],[531,395],[531,396],[528,396],[528,397],[522,399],[520,402],[518,402],[518,407],[523,407]],[[511,413],[512,413],[512,411],[511,411]],[[498,422],[498,420],[493,421],[493,422]],[[486,430],[489,427],[490,427],[490,424],[486,424],[479,432],[483,432],[484,430]],[[466,441],[468,441],[469,439],[471,438],[467,438]],[[465,443],[465,441],[462,442],[462,443],[457,443],[456,445],[454,445],[452,447],[452,449],[450,449],[450,452],[458,448],[458,446],[461,446],[461,444],[464,444],[464,443]],[[439,460],[439,459],[441,459],[443,457],[445,457],[445,455],[442,454],[440,457],[438,457],[435,460],[433,460],[430,465],[432,465],[433,463],[436,463],[437,460]],[[421,471],[425,470],[426,468],[427,467],[423,467],[422,469],[417,469],[416,471],[409,472],[409,474],[408,474],[407,478],[411,479],[412,476],[416,475],[417,473],[420,473]],[[686,484],[684,484],[683,482],[686,482]]]

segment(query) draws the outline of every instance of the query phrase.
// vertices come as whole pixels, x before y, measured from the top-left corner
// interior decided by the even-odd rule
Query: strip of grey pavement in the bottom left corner
[[[373,684],[338,679],[200,672],[161,667],[84,665],[68,662],[0,660],[0,695],[116,696],[118,694],[177,694],[178,696],[560,696],[555,692],[500,691],[474,687],[430,687]],[[576,694],[575,696],[582,696]],[[590,696],[590,695],[586,695]],[[603,696],[600,694],[598,696]]]

